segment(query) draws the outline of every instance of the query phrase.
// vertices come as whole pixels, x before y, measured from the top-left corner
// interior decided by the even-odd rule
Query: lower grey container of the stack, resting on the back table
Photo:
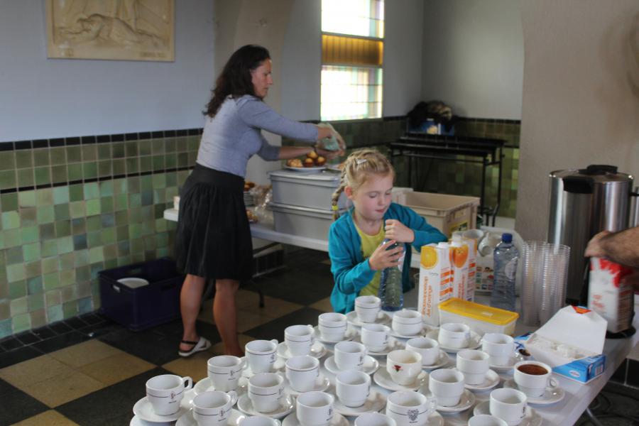
[[[273,212],[275,231],[327,241],[328,231],[333,223],[331,210],[310,209],[275,202],[269,203],[267,208]]]

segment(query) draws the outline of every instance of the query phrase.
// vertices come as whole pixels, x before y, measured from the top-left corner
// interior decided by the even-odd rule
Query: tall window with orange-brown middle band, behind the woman
[[[383,0],[322,0],[322,121],[382,116]]]

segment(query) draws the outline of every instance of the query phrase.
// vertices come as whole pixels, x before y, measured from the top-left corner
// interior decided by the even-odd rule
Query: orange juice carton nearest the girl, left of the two
[[[422,246],[420,282],[417,284],[417,310],[427,324],[439,326],[440,302],[451,294],[450,247],[447,243]]]

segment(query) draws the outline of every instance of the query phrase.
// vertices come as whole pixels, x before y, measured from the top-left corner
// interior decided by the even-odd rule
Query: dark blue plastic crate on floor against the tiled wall
[[[129,288],[121,278],[144,278],[148,285]],[[138,331],[180,317],[180,290],[184,275],[170,258],[134,263],[99,273],[100,312],[125,327]]]

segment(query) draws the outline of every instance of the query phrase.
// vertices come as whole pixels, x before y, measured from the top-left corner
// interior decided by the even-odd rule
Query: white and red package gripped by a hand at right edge
[[[588,307],[608,322],[608,332],[630,328],[633,315],[633,287],[623,278],[630,268],[604,258],[590,258]]]

